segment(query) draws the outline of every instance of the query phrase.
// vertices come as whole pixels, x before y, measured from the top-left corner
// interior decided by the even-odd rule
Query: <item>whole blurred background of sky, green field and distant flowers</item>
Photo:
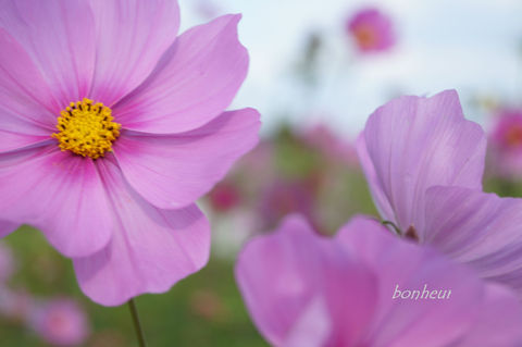
[[[200,201],[213,225],[209,265],[166,294],[137,299],[150,346],[266,346],[234,281],[237,252],[288,213],[304,214],[324,235],[355,213],[374,214],[353,142],[393,97],[457,89],[467,117],[489,134],[486,190],[522,195],[521,1],[179,4],[182,30],[244,14],[250,72],[233,108],[259,109],[263,129],[260,145]],[[368,9],[378,18],[348,28]],[[388,45],[369,49],[383,36]],[[137,343],[128,308],[90,302],[71,262],[23,226],[0,241],[0,345]]]

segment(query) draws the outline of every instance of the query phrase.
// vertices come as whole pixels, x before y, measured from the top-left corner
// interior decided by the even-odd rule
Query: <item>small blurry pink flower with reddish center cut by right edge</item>
[[[489,166],[495,175],[522,178],[522,110],[498,112],[488,145]]]

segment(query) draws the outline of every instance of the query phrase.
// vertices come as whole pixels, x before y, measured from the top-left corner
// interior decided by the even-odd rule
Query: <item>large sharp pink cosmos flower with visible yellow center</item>
[[[176,37],[175,0],[0,7],[0,220],[41,230],[102,305],[198,271],[195,201],[258,140],[257,111],[224,112],[247,74],[240,15]]]

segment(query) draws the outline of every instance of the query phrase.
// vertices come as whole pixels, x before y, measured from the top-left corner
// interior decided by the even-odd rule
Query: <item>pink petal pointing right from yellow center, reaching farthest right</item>
[[[201,128],[157,136],[126,132],[114,153],[136,191],[161,209],[188,206],[224,177],[258,141],[259,113],[225,112]]]

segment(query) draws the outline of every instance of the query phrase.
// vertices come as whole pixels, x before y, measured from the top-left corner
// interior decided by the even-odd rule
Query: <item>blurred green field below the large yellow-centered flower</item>
[[[85,346],[137,346],[128,307],[107,308],[87,299],[76,284],[71,261],[39,232],[23,226],[5,240],[18,260],[12,288],[79,301],[94,331]],[[169,293],[144,295],[136,302],[150,346],[268,346],[248,318],[228,261],[213,258],[204,270]],[[0,336],[1,346],[48,346],[23,324],[7,320],[0,320]]]

